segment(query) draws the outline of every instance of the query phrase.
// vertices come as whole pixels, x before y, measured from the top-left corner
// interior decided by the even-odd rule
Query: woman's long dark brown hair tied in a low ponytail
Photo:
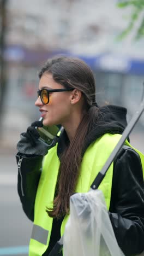
[[[61,155],[53,208],[46,210],[50,217],[61,218],[65,213],[69,213],[69,198],[75,191],[79,177],[85,138],[99,119],[100,111],[95,104],[94,76],[85,62],[74,57],[53,57],[41,68],[39,78],[45,72],[51,73],[53,79],[65,88],[80,90],[85,98],[85,114],[73,140]]]

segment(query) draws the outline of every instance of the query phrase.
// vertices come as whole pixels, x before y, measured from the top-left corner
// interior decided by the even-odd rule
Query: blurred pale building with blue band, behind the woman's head
[[[128,108],[139,105],[144,78],[143,40],[134,33],[123,41],[116,37],[127,27],[131,9],[118,9],[116,0],[10,0],[5,60],[8,95],[4,125],[13,129],[39,117],[34,106],[41,63],[53,54],[81,57],[93,69],[99,104]],[[136,26],[141,21],[136,21]],[[143,121],[142,121],[143,123]]]

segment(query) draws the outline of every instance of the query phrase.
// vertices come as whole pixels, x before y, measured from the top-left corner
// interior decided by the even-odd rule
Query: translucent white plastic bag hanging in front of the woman
[[[123,256],[107,213],[103,193],[91,190],[70,197],[64,256]]]

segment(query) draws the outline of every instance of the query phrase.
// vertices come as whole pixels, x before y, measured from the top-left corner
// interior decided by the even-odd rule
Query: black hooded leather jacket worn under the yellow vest
[[[127,125],[125,108],[107,106],[100,108],[101,120],[95,125],[85,139],[85,150],[95,139],[110,132],[122,133]],[[65,131],[61,134],[57,147],[57,155],[63,152],[68,143]],[[18,173],[18,193],[23,210],[27,217],[34,219],[34,201],[41,174],[42,156],[22,158]],[[140,156],[135,150],[124,146],[117,155],[113,165],[111,203],[109,216],[119,247],[125,255],[139,254],[144,250],[144,184]],[[50,244],[44,255],[48,255],[56,241],[60,238],[61,220],[53,220]]]

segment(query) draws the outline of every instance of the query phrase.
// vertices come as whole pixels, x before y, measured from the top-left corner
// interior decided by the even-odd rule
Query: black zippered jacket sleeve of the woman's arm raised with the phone
[[[37,193],[43,156],[16,155],[18,166],[17,191],[26,216],[34,220],[34,202]]]

